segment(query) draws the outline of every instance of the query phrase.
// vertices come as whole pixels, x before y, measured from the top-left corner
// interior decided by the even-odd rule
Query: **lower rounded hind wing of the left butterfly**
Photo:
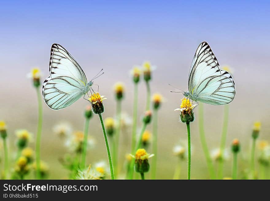
[[[80,80],[68,76],[47,77],[42,85],[45,103],[53,110],[70,106],[84,94]]]

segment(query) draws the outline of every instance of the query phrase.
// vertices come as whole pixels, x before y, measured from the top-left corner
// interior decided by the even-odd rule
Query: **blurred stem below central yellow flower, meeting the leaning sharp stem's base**
[[[117,177],[118,174],[118,147],[119,147],[119,136],[121,130],[121,100],[117,100],[116,103],[116,116],[117,116],[117,128],[115,133],[115,157],[114,158],[114,174]]]

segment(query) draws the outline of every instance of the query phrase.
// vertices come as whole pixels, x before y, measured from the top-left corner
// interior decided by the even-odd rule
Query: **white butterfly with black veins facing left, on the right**
[[[211,105],[227,104],[234,99],[233,77],[220,69],[218,60],[205,41],[195,52],[188,75],[188,91],[183,95]]]

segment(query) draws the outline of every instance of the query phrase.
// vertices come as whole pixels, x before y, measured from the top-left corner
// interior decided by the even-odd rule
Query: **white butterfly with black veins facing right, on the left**
[[[43,82],[42,95],[45,103],[53,110],[70,106],[86,95],[98,76],[87,82],[77,61],[64,47],[56,43],[51,47],[49,67],[50,76]]]

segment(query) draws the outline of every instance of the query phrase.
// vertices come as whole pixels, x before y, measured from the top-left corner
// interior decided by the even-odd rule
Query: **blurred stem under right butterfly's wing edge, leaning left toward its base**
[[[224,117],[223,117],[223,127],[222,127],[222,135],[220,141],[220,155],[223,158],[224,149],[226,146],[226,136],[228,131],[228,119],[229,119],[229,105],[224,106]],[[224,160],[219,160],[218,162],[218,179],[223,178],[223,162]]]

